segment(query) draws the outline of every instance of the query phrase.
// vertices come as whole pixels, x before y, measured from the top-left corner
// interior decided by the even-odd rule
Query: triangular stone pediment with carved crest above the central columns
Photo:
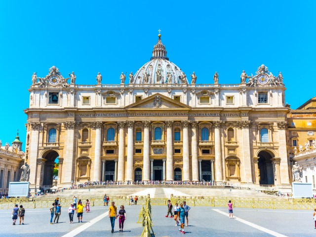
[[[177,109],[177,110],[189,110],[190,106],[183,104],[181,102],[175,101],[167,96],[156,93],[151,95],[143,100],[137,101],[131,105],[125,107],[125,109],[154,109],[154,110],[163,110],[163,109]]]

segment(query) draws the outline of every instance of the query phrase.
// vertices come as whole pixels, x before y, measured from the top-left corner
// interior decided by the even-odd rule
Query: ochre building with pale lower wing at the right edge
[[[301,181],[312,183],[316,194],[316,97],[290,110],[287,121],[291,167],[295,162],[303,166]]]

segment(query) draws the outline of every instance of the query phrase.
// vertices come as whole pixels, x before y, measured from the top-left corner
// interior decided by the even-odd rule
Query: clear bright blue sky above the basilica
[[[55,65],[78,84],[119,83],[149,61],[161,29],[167,56],[197,83],[239,83],[261,64],[282,72],[286,102],[316,96],[316,1],[1,1],[0,140],[25,145],[31,76]],[[24,146],[23,146],[24,147]]]

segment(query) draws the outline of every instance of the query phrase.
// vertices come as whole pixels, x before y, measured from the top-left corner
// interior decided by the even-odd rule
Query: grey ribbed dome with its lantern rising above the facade
[[[188,84],[188,79],[181,69],[169,61],[165,45],[162,44],[161,35],[154,46],[153,56],[134,75],[134,84]],[[182,77],[182,79],[181,79]]]

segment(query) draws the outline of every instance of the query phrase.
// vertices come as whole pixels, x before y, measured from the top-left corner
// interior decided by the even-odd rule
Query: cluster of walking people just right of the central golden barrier
[[[180,206],[178,206],[178,203],[175,203],[174,206],[174,210],[172,211],[172,204],[171,201],[168,200],[168,204],[167,204],[168,210],[167,210],[167,215],[165,217],[169,216],[170,213],[170,217],[174,217],[173,219],[176,222],[175,226],[179,225],[179,221],[180,221],[180,229],[179,232],[182,234],[186,234],[184,231],[184,225],[185,225],[185,219],[187,219],[187,224],[186,226],[188,227],[189,225],[189,210],[191,209],[190,206],[187,205],[186,201],[184,201],[183,203],[180,203]],[[173,213],[173,215],[172,215]]]

